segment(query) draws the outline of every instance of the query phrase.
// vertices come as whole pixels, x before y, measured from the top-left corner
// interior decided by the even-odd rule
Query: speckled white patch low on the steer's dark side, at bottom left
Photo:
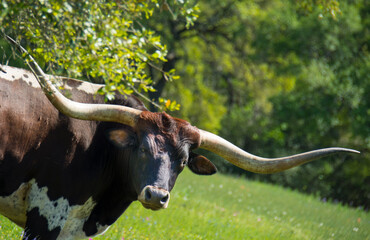
[[[40,188],[35,179],[22,183],[11,195],[0,197],[0,214],[24,228],[27,211],[37,208],[40,216],[47,220],[49,231],[60,227],[58,240],[86,238],[83,226],[96,205],[93,199],[90,197],[82,205],[70,206],[64,197],[51,201],[47,192],[48,188]],[[108,228],[109,225],[97,224],[96,235],[104,233]]]

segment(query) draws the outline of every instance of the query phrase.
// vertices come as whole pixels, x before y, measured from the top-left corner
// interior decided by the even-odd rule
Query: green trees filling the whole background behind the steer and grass
[[[91,6],[68,1],[72,16],[79,20],[70,20],[71,26],[52,26],[51,32],[61,39],[51,42],[47,41],[51,34],[46,23],[35,21],[32,31],[22,28],[19,19],[11,23],[18,14],[12,9],[26,11],[27,4],[21,8],[9,2],[2,1],[3,32],[22,37],[50,71],[105,81],[108,87],[103,94],[108,97],[112,89],[122,89],[141,91],[143,97],[170,110],[179,108],[179,103],[180,111],[172,115],[264,157],[330,146],[360,150],[358,156],[333,156],[272,175],[247,173],[217,156],[209,158],[224,173],[281,184],[323,199],[370,206],[368,1],[169,4],[137,0],[128,5],[113,2],[112,6],[104,1],[90,1]],[[52,1],[30,2],[42,6],[50,18],[47,24],[60,22],[54,17],[55,4],[46,4]],[[131,3],[133,7],[128,8]],[[103,10],[98,6],[104,6]],[[61,16],[70,14],[65,13],[69,11],[65,5],[57,11]],[[101,16],[99,11],[104,18],[96,19]],[[28,20],[44,17],[37,15],[39,11],[32,14]],[[85,33],[87,19],[100,26],[91,28],[92,39]],[[46,32],[38,35],[36,29]],[[70,32],[71,36],[62,38]],[[84,45],[89,41],[94,44]],[[0,44],[4,64],[11,52],[5,49],[5,42]],[[76,66],[69,62],[75,56],[81,59]],[[158,110],[154,105],[151,108]]]

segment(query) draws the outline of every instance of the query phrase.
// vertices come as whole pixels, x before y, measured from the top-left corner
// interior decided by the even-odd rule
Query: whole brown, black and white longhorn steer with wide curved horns
[[[166,208],[186,165],[197,174],[216,172],[192,153],[198,147],[259,173],[357,152],[328,148],[260,158],[184,120],[149,112],[134,96],[104,104],[94,95],[101,85],[59,78],[71,101],[32,59],[30,67],[37,77],[8,66],[0,71],[0,213],[25,228],[24,239],[100,234],[135,200]]]

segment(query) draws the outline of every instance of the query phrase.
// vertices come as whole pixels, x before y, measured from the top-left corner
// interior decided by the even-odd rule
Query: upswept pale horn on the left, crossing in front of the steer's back
[[[27,50],[11,37],[6,36],[6,38],[21,53],[27,55],[29,58],[27,64],[31,68],[42,90],[54,107],[61,113],[81,120],[118,122],[132,127],[136,125],[137,119],[142,112],[140,110],[120,105],[79,103],[63,96]]]

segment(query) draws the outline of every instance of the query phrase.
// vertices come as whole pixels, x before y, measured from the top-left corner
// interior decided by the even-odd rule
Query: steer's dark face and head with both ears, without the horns
[[[166,113],[144,111],[133,130],[114,129],[108,136],[116,147],[129,149],[132,188],[152,210],[168,206],[170,191],[186,166],[202,175],[217,171],[207,158],[191,152],[200,144],[199,130]]]

